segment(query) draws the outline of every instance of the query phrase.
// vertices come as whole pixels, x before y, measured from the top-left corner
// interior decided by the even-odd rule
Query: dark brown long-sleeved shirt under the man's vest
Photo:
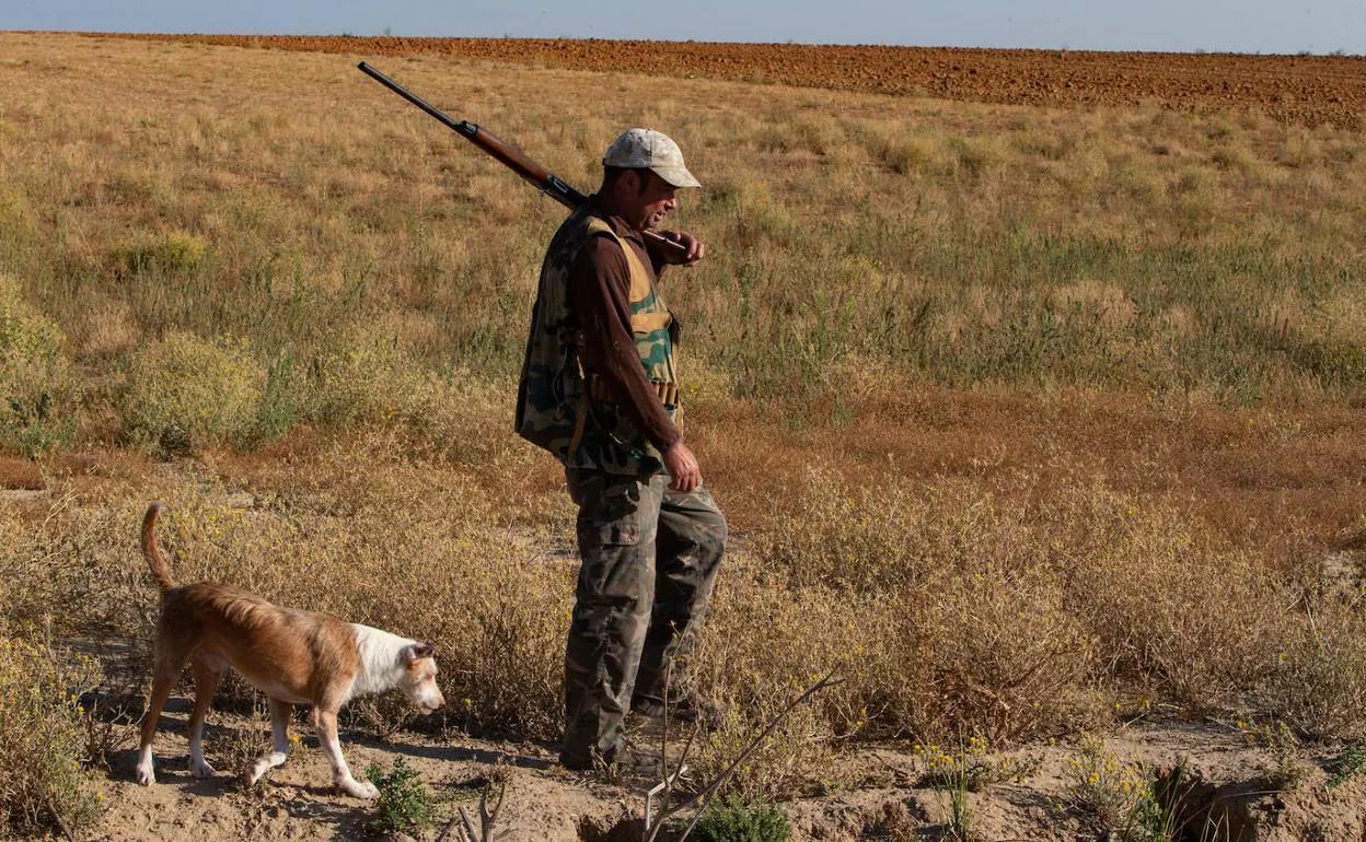
[[[602,212],[597,197],[590,199],[590,205],[616,236],[635,250],[646,272],[653,276],[650,280],[658,280],[664,263],[646,250],[639,232],[622,217]],[[645,438],[664,453],[678,444],[680,435],[645,377],[645,366],[641,364],[635,337],[631,334],[630,292],[631,270],[626,265],[626,255],[611,237],[589,237],[570,267],[568,280],[570,306],[583,329],[583,364],[602,378],[612,397]]]

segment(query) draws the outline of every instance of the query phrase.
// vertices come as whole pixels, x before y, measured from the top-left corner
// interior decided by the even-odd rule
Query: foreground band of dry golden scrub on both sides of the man
[[[567,505],[552,494],[512,508],[393,446],[332,448],[299,467],[311,483],[258,487],[250,509],[204,475],[139,491],[169,501],[178,580],[227,580],[432,640],[449,723],[553,740],[574,568],[545,549],[571,546]],[[1112,703],[1138,692],[1188,714],[1254,704],[1317,737],[1363,725],[1352,611],[1165,505],[1096,483],[1033,504],[1001,484],[882,475],[877,487],[811,474],[732,564],[691,665],[728,710],[699,768],[833,666],[843,684],[784,723],[740,770],[740,790],[791,793],[850,740],[1008,745],[1104,727]],[[141,505],[94,495],[41,523],[0,510],[15,536],[0,551],[7,614],[131,639],[145,655],[156,596],[134,543]],[[781,525],[794,512],[807,514],[799,529]],[[519,519],[541,534],[510,529]],[[143,659],[123,663],[137,673]],[[370,718],[392,721],[400,704]]]

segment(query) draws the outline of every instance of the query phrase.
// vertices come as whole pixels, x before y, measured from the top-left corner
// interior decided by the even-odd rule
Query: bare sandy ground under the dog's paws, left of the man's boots
[[[150,841],[195,834],[204,839],[354,839],[369,835],[366,823],[374,817],[374,811],[363,801],[332,790],[326,757],[307,726],[298,723],[295,733],[303,738],[288,763],[265,782],[249,787],[238,770],[231,768],[235,757],[225,757],[223,746],[242,745],[250,734],[265,740],[265,723],[210,715],[205,752],[219,774],[198,781],[187,771],[187,721],[189,700],[172,699],[154,744],[157,783],[153,786],[134,782],[134,751],[116,755],[105,790],[109,809],[94,838]],[[500,839],[579,839],[581,827],[611,828],[626,817],[631,804],[627,790],[559,767],[553,746],[434,740],[413,733],[380,741],[351,731],[343,736],[343,749],[358,775],[372,763],[389,768],[400,757],[421,772],[438,801],[440,827],[455,816],[460,804],[475,808],[478,785],[494,770],[507,770],[507,801],[497,823]]]

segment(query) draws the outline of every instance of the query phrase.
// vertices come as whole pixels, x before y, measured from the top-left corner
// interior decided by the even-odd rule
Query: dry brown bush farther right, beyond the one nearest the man
[[[1193,712],[1228,704],[1295,624],[1265,558],[1209,546],[1169,506],[1086,484],[1044,509],[1068,610],[1115,681],[1156,685]]]

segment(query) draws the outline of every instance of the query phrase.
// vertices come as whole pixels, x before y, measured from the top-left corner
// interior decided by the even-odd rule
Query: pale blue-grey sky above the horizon
[[[0,30],[1366,53],[1366,0],[0,0]]]

